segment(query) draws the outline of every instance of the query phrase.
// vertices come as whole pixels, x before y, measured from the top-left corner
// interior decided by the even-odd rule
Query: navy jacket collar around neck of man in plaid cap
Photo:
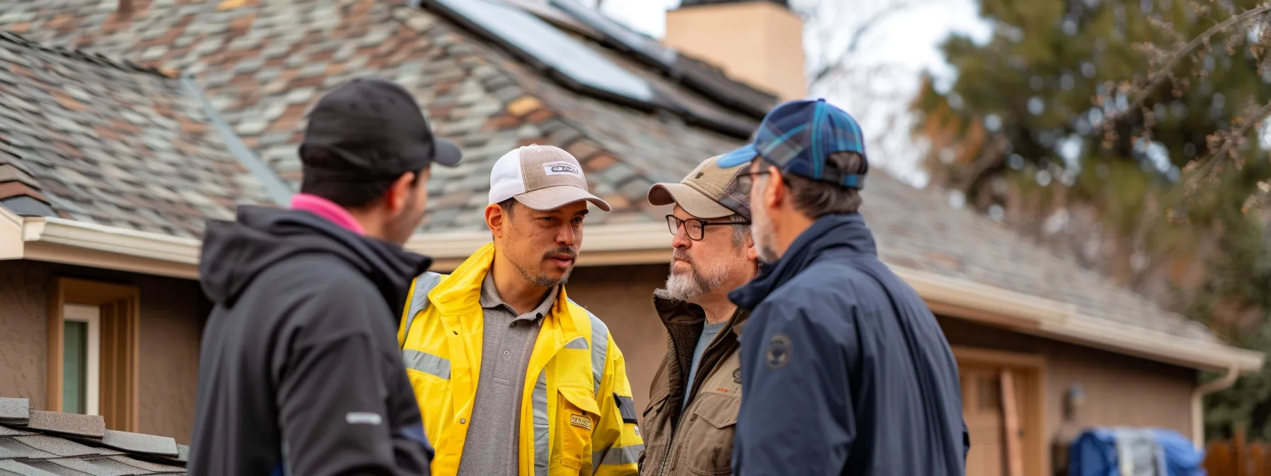
[[[775,263],[761,267],[750,283],[728,293],[737,307],[754,311],[768,294],[827,254],[878,256],[873,232],[860,213],[826,215],[791,242]]]

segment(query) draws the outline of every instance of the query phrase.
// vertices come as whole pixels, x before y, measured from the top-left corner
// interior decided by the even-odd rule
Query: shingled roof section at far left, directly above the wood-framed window
[[[0,203],[198,236],[238,198],[263,192],[178,79],[0,33]]]

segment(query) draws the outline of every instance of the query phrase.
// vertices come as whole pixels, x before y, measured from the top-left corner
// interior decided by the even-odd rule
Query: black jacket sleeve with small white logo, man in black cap
[[[394,429],[400,409],[390,392],[408,385],[405,368],[390,326],[376,326],[391,311],[350,286],[295,310],[305,324],[276,374],[283,463],[305,476],[418,473],[431,448],[417,416],[417,428]]]

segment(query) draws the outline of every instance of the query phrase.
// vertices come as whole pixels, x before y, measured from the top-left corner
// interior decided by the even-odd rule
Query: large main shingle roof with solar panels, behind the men
[[[550,9],[541,1],[517,4],[526,1],[540,15]],[[296,146],[304,114],[320,94],[360,75],[391,79],[416,95],[436,132],[455,140],[465,155],[455,169],[435,169],[428,231],[480,230],[489,170],[521,145],[555,145],[577,156],[592,190],[614,206],[614,212],[588,222],[615,223],[661,220],[665,211],[644,201],[652,183],[676,182],[699,161],[742,141],[671,114],[578,94],[451,19],[404,0],[133,3],[136,11],[125,19],[99,0],[0,0],[0,28],[196,74],[234,129],[291,183],[300,173]],[[683,103],[750,121],[585,32],[574,37]],[[863,213],[887,263],[1071,303],[1112,322],[1216,339],[1070,258],[949,207],[932,190],[872,175]]]

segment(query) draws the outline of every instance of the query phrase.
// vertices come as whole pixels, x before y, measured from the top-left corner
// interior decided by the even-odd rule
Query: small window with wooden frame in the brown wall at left
[[[133,286],[53,278],[47,410],[99,414],[105,428],[137,430],[139,297]]]

